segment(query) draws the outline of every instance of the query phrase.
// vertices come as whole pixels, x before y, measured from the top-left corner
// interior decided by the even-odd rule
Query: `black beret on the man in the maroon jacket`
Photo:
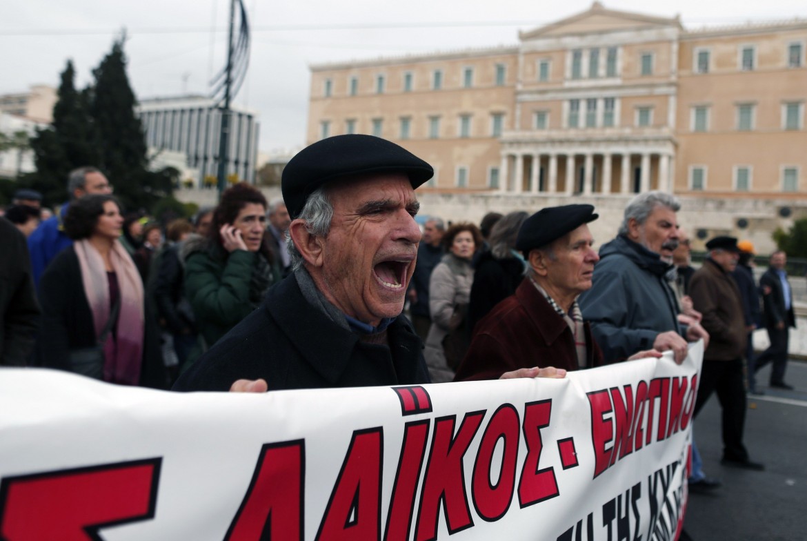
[[[599,214],[594,213],[592,205],[541,208],[521,224],[516,237],[516,250],[527,254],[529,250],[546,246],[599,217]]]

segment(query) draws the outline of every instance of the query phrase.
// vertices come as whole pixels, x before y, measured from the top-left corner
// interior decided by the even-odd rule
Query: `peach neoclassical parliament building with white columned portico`
[[[805,49],[804,19],[594,2],[510,47],[313,65],[307,140],[394,140],[435,167],[425,193],[807,200]]]

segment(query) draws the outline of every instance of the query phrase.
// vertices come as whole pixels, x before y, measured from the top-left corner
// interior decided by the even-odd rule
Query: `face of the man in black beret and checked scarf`
[[[554,291],[564,296],[578,296],[592,288],[594,266],[600,261],[593,245],[594,238],[587,224],[552,243],[555,258],[546,262],[546,279]]]

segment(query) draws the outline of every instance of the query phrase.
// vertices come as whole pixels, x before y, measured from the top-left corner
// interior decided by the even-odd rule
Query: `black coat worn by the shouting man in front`
[[[420,338],[406,317],[387,327],[391,347],[359,341],[303,297],[294,275],[207,350],[175,391],[227,391],[262,378],[270,390],[429,383]]]

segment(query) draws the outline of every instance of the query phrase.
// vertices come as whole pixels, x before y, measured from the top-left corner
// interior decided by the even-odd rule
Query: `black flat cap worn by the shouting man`
[[[434,176],[432,166],[388,140],[358,134],[334,136],[307,146],[286,164],[283,201],[295,219],[308,196],[324,183],[369,173],[408,174],[412,188]]]

